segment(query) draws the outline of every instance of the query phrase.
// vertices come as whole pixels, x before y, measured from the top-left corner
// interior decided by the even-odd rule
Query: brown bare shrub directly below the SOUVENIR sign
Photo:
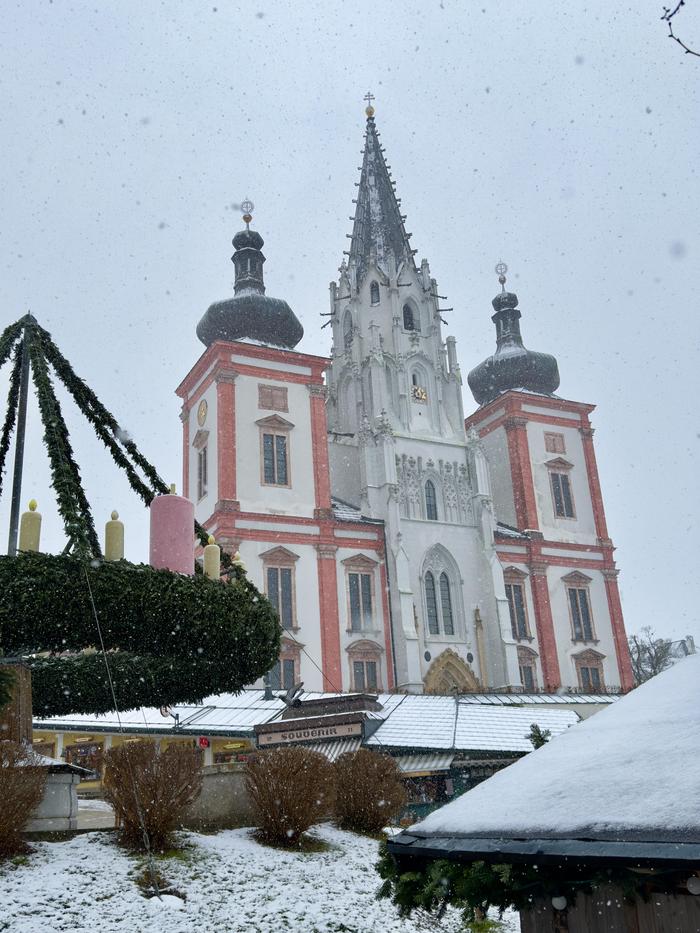
[[[256,825],[266,842],[299,845],[301,836],[328,815],[335,796],[333,765],[308,748],[259,752],[246,768]]]

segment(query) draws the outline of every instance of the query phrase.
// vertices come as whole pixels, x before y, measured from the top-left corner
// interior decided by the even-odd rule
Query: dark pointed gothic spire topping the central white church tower
[[[368,94],[365,99],[370,102],[372,96]],[[397,267],[402,262],[409,262],[415,268],[414,250],[409,243],[410,234],[406,233],[403,224],[404,217],[399,209],[389,166],[379,143],[379,134],[374,122],[374,107],[371,103],[365,113],[365,148],[349,262],[351,266],[355,266],[358,285],[367,274],[372,261],[387,274],[391,272],[392,257]]]

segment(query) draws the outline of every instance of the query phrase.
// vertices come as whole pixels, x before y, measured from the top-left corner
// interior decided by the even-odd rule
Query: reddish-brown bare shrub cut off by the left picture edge
[[[22,830],[44,793],[46,768],[25,745],[0,742],[0,858],[25,852]]]

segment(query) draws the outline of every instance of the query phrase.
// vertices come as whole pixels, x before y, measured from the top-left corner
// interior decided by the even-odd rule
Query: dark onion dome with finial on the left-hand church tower
[[[231,261],[236,270],[234,296],[209,307],[197,325],[197,336],[209,346],[215,340],[253,340],[292,349],[304,336],[304,328],[286,301],[265,294],[261,250],[264,240],[250,229],[253,205],[244,201],[245,230],[233,238]]]

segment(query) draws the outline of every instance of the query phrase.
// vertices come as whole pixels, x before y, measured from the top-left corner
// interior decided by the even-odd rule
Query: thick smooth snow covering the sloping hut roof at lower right
[[[700,655],[692,655],[408,834],[433,844],[438,837],[700,844],[699,709]]]

